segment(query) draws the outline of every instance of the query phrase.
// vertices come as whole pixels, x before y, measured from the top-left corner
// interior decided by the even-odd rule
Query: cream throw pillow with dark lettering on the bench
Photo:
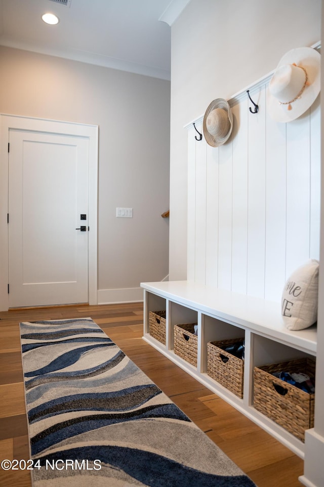
[[[303,330],[317,320],[318,268],[315,259],[296,269],[282,292],[281,314],[289,330]]]

